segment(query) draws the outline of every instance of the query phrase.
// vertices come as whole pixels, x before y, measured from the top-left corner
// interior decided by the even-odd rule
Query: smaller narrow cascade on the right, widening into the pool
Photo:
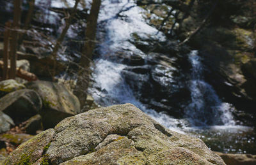
[[[191,103],[186,108],[186,116],[194,126],[224,125],[234,126],[235,122],[230,111],[232,106],[222,103],[209,83],[202,76],[202,63],[198,52],[189,54],[192,66],[190,83]]]

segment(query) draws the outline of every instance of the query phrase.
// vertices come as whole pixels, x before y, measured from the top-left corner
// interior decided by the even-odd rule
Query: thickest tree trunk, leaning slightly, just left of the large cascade
[[[97,20],[100,10],[101,0],[93,0],[90,15],[88,17],[87,28],[85,32],[85,43],[82,49],[81,59],[79,62],[80,70],[77,75],[77,85],[74,94],[79,98],[81,108],[83,108],[87,89],[90,80],[90,62],[92,61],[93,49],[95,47],[95,36],[97,32]]]

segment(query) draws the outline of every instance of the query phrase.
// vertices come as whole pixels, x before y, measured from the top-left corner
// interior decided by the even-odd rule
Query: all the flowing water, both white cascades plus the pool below
[[[140,52],[142,59],[147,58],[129,39],[134,32],[146,34],[164,41],[166,37],[143,19],[143,9],[134,1],[105,0],[99,15],[99,33],[103,31],[93,66],[93,85],[90,93],[102,106],[132,103],[164,126],[202,138],[212,150],[235,153],[254,153],[255,134],[252,127],[236,126],[232,117],[232,104],[223,103],[209,83],[204,81],[203,66],[196,50],[188,55],[191,63],[189,90],[191,101],[186,105],[184,118],[174,118],[168,113],[148,108],[136,97],[134,90],[127,84],[122,71],[127,67],[120,62],[117,52]],[[102,35],[101,35],[102,36]],[[136,83],[136,82],[134,82]]]

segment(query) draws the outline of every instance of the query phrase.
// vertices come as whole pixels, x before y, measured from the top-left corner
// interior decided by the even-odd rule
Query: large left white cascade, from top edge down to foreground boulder
[[[129,9],[129,10],[127,10]],[[122,11],[122,12],[121,12]],[[105,22],[106,39],[100,44],[100,59],[95,61],[93,69],[93,80],[97,82],[97,87],[89,89],[97,103],[103,106],[111,104],[132,103],[152,118],[168,128],[175,129],[180,120],[170,117],[164,113],[148,109],[134,97],[129,85],[122,78],[121,71],[125,68],[123,64],[108,59],[109,54],[114,54],[118,47],[127,47],[129,50],[138,50],[127,41],[132,32],[156,35],[157,29],[148,25],[141,12],[143,9],[136,6],[134,1],[103,1],[99,14],[99,22]],[[116,18],[117,14],[124,15],[124,18]],[[129,15],[129,17],[127,17]],[[162,32],[157,34],[157,38],[164,40]],[[176,130],[176,129],[175,129]],[[176,130],[179,131],[179,130]],[[180,131],[179,131],[180,132]]]

